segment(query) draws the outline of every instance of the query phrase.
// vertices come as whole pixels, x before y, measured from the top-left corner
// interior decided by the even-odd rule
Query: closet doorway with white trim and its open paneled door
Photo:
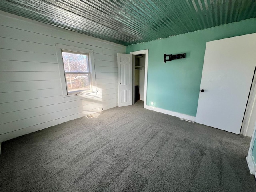
[[[118,106],[128,106],[135,103],[135,66],[136,66],[136,101],[147,102],[148,79],[148,49],[117,54],[118,62]],[[136,58],[136,59],[135,59]],[[136,60],[136,64],[135,64]],[[130,62],[132,61],[132,66]],[[132,78],[132,84],[131,84]],[[131,101],[132,99],[132,101]]]

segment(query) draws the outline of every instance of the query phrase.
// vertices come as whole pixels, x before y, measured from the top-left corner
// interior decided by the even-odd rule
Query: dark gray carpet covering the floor
[[[252,192],[249,144],[137,102],[3,142],[0,190]]]

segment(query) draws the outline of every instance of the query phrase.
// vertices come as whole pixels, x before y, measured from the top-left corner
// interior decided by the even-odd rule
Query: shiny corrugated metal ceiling
[[[0,10],[130,45],[256,17],[256,0],[1,0]]]

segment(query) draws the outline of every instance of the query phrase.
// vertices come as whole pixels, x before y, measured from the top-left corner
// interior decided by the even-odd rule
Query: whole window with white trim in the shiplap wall
[[[63,96],[96,92],[92,50],[56,44]]]

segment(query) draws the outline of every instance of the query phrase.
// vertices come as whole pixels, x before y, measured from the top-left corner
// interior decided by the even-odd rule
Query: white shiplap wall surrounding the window
[[[62,96],[55,44],[94,52],[96,96]],[[118,106],[125,46],[0,11],[0,142]]]

